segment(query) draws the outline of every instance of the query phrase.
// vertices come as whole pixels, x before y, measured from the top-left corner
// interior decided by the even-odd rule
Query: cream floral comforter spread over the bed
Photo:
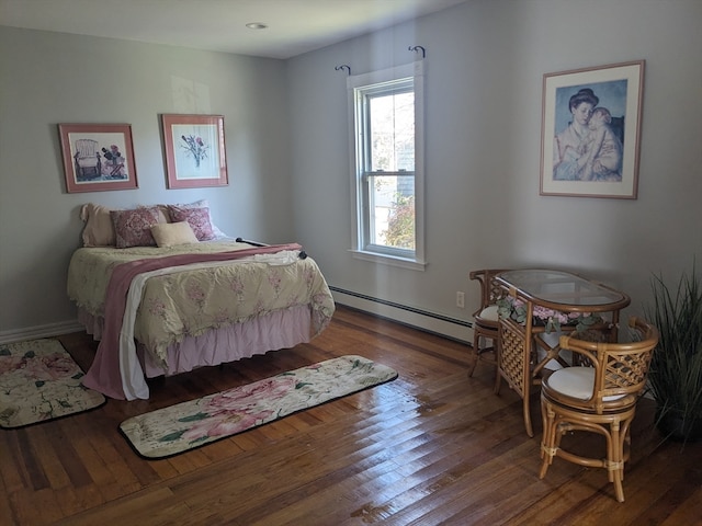
[[[104,317],[111,276],[123,263],[176,256],[251,251],[235,241],[159,248],[78,249],[68,272],[68,296],[95,317]],[[169,345],[210,329],[238,323],[295,306],[312,309],[313,336],[329,323],[335,310],[327,283],[312,258],[298,251],[253,254],[207,262],[149,277],[134,322],[134,338],[165,361]]]

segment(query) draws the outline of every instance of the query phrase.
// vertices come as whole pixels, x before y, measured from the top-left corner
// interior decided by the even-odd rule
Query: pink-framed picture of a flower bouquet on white
[[[224,116],[163,114],[169,188],[226,186]]]

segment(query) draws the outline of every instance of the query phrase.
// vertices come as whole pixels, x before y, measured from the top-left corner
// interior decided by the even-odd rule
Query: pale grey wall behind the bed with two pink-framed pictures
[[[177,103],[173,78],[205,95]],[[0,26],[0,335],[75,320],[83,203],[207,198],[234,237],[293,238],[284,83],[280,60]],[[224,115],[229,186],[166,190],[162,113]],[[59,123],[131,124],[139,188],[66,193]]]

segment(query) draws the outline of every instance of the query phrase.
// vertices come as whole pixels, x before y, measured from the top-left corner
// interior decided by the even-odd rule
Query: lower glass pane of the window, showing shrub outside
[[[415,250],[415,178],[369,178],[371,243]]]

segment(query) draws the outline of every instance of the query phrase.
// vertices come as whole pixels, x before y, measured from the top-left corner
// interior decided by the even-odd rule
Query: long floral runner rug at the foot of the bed
[[[144,457],[161,458],[397,378],[361,356],[342,356],[133,416],[120,428]]]

